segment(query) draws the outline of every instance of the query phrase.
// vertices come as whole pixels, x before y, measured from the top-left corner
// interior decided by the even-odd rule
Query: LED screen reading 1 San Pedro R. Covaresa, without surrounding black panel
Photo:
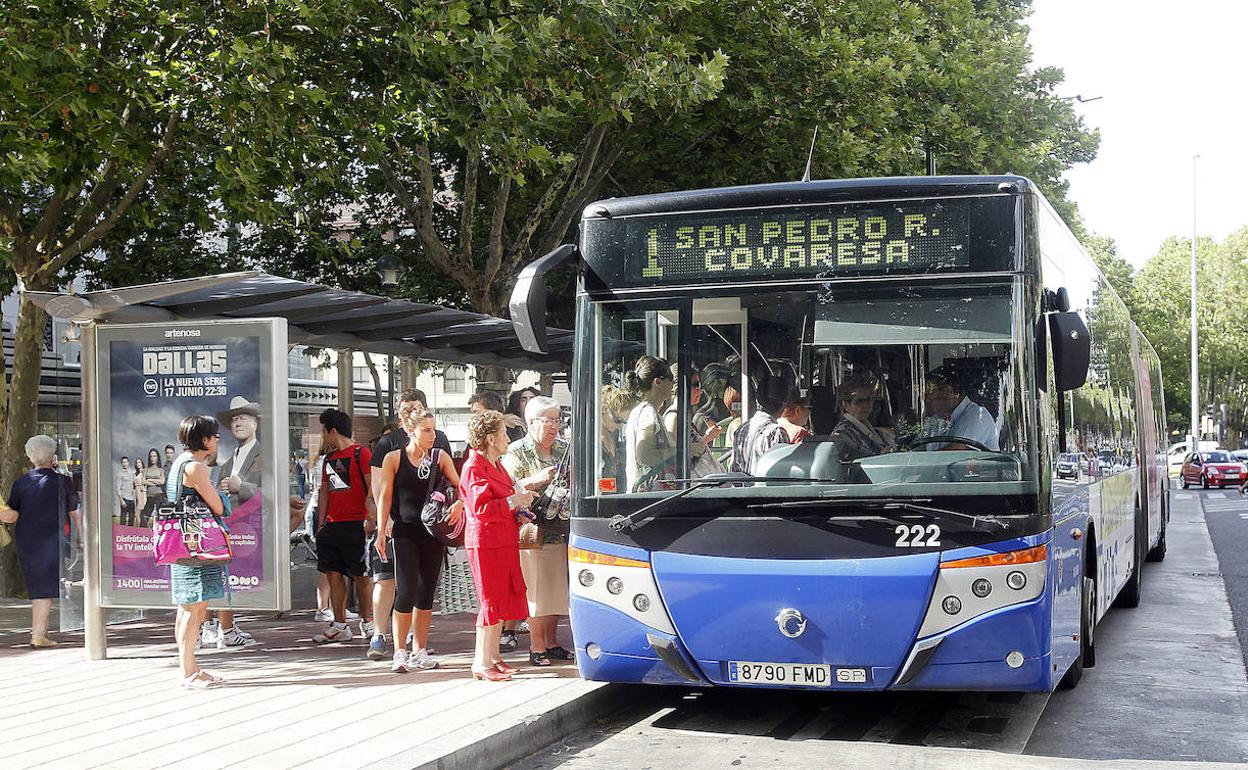
[[[965,270],[967,202],[639,217],[629,222],[624,277],[644,285]]]

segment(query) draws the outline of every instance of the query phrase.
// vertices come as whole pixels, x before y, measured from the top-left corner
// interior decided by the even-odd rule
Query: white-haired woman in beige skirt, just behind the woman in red
[[[568,442],[559,437],[559,402],[534,396],[524,407],[524,422],[529,433],[507,449],[503,465],[519,487],[540,493],[568,453]],[[572,660],[555,638],[559,615],[568,614],[568,537],[544,530],[540,548],[520,552],[520,569],[529,600],[529,663]]]

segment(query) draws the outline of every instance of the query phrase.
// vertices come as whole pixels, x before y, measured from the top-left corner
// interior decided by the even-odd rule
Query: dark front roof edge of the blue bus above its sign
[[[1001,190],[1001,185],[1012,188]],[[585,206],[584,218],[612,218],[676,211],[716,211],[758,206],[791,206],[859,200],[890,200],[932,196],[992,195],[1035,191],[1023,176],[891,176],[860,180],[776,182],[709,190],[685,190],[605,198]]]

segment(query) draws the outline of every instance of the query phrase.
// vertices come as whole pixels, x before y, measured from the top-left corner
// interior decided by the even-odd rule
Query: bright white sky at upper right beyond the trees
[[[1136,267],[1168,236],[1223,240],[1248,226],[1248,2],[1035,0],[1033,66],[1066,71],[1061,96],[1101,130],[1096,160],[1071,168],[1088,231]]]

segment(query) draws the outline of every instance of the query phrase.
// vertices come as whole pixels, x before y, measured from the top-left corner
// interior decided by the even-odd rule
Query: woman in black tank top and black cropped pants
[[[407,431],[407,446],[386,454],[381,468],[381,488],[377,500],[378,530],[394,539],[394,658],[392,671],[409,669],[436,669],[438,663],[429,656],[429,623],[433,620],[433,593],[438,587],[446,548],[429,534],[421,523],[421,510],[429,497],[429,478],[433,463],[451,484],[459,485],[459,474],[451,454],[433,448],[437,438],[433,413],[418,402],[404,403],[399,408],[399,421]],[[392,507],[391,502],[398,504]],[[462,503],[451,509],[453,520],[462,514]],[[391,514],[394,518],[391,518]],[[377,553],[386,559],[386,537],[374,542]],[[407,639],[416,620],[411,655],[399,639]]]

